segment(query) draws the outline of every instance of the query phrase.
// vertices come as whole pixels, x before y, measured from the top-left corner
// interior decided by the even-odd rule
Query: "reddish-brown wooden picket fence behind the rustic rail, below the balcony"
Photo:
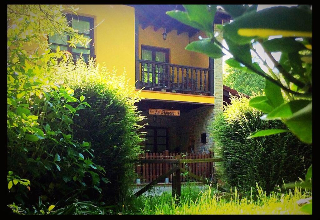
[[[143,153],[140,155],[140,159],[174,159],[176,153],[169,153],[165,150],[162,153]],[[180,154],[181,159],[207,159],[212,158],[213,153],[188,153],[187,155]],[[212,163],[214,162],[193,162],[182,163],[181,168],[188,170],[189,172],[210,179],[212,177]],[[150,183],[162,174],[167,173],[172,169],[172,164],[168,163],[142,163],[136,165],[136,173],[140,177],[140,183]],[[172,183],[172,175],[169,177],[169,182]],[[180,177],[181,182],[187,180],[195,180],[188,175],[182,175]],[[163,181],[164,182],[164,181]]]

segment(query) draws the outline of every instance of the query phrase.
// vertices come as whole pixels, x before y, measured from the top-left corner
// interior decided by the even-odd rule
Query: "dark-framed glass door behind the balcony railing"
[[[147,45],[141,45],[141,59],[150,60],[155,62],[169,63],[169,54],[170,49],[161,48],[161,47],[152,47]],[[148,83],[148,72],[147,72],[147,64],[144,65],[144,82]],[[162,73],[163,67],[162,65],[155,66],[156,72],[156,81],[158,83],[158,72]],[[152,74],[149,75],[149,82],[152,83]]]

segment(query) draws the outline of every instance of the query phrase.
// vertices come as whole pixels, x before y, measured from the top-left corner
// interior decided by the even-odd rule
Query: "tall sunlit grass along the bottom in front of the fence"
[[[288,193],[267,193],[256,185],[257,197],[252,195],[241,198],[236,188],[230,188],[228,199],[221,199],[220,193],[209,187],[198,193],[196,198],[188,197],[187,189],[181,192],[181,201],[176,204],[176,198],[170,193],[161,196],[141,196],[132,204],[134,207],[126,209],[122,214],[306,214],[300,211],[297,201],[312,196],[312,192],[302,191],[295,187]],[[192,191],[194,193],[194,191]]]

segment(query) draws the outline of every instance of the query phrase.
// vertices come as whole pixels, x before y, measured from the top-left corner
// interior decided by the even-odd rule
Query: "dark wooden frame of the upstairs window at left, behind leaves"
[[[85,50],[90,50],[90,54],[85,54],[83,53],[83,57],[86,58],[90,55],[90,57],[95,58],[95,54],[94,54],[94,18],[91,17],[86,17],[86,16],[81,16],[81,15],[73,15],[73,14],[66,14],[66,18],[68,21],[68,25],[70,27],[72,27],[72,20],[76,19],[76,20],[83,20],[83,21],[88,21],[90,24],[90,30],[89,30],[89,34],[86,33],[82,33],[79,32],[79,34],[83,34],[84,36],[88,36],[91,40],[90,44],[90,48],[85,48],[82,46],[77,46],[76,49],[85,49]],[[48,36],[48,39],[50,38],[50,36]],[[67,41],[70,40],[70,36],[67,35]],[[52,43],[52,42],[49,42]],[[61,44],[61,43],[52,43],[52,45],[58,45],[58,46],[65,46],[67,47],[67,51],[72,53],[74,59],[76,60],[77,57],[80,57],[80,53],[78,52],[74,52],[72,51],[73,47],[69,47],[68,44]]]

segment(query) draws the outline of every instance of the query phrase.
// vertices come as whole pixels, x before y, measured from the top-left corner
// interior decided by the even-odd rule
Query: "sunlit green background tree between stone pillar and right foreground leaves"
[[[223,84],[248,96],[264,91],[266,83],[262,76],[246,73],[240,69],[228,66],[223,75]]]

